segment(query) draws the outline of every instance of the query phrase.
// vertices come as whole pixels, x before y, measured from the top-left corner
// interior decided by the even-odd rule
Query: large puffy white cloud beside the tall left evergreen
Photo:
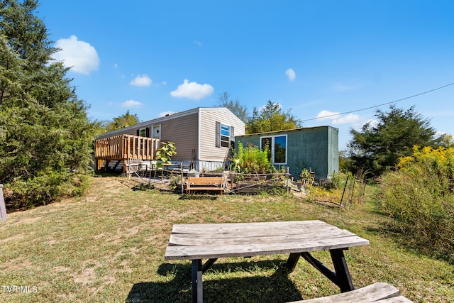
[[[75,35],[57,40],[55,48],[61,50],[52,57],[57,61],[62,61],[63,65],[70,67],[73,72],[89,75],[99,67],[98,53],[94,47],[87,42],[77,40]]]

